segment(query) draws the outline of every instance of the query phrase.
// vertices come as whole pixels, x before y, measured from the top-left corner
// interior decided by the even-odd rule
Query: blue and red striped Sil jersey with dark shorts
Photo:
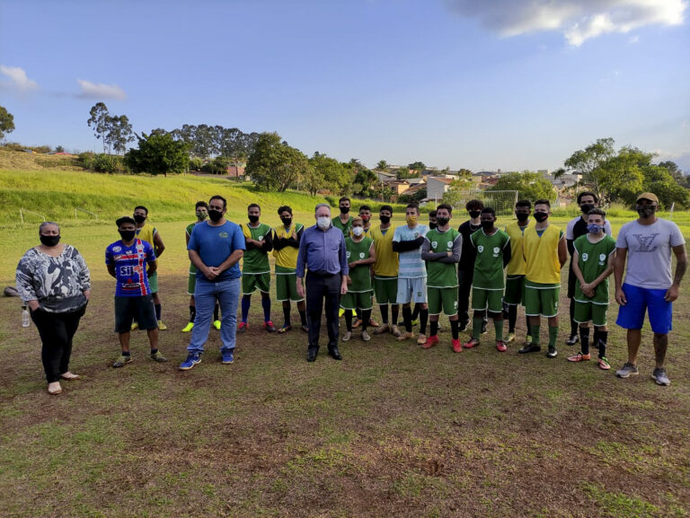
[[[115,268],[115,332],[128,332],[136,318],[140,329],[158,329],[146,265],[155,262],[154,247],[135,239],[131,246],[115,241],[105,249],[105,264]]]

